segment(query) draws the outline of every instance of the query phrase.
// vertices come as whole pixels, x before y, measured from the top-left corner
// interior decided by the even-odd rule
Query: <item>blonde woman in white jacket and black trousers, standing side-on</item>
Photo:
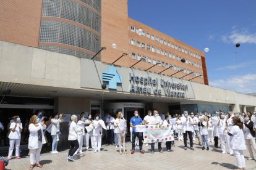
[[[69,148],[69,155],[67,156],[67,161],[75,161],[73,158],[74,153],[79,148],[78,142],[78,133],[82,132],[83,129],[81,127],[77,127],[77,116],[71,116],[71,123],[69,125],[69,140],[70,148]]]

